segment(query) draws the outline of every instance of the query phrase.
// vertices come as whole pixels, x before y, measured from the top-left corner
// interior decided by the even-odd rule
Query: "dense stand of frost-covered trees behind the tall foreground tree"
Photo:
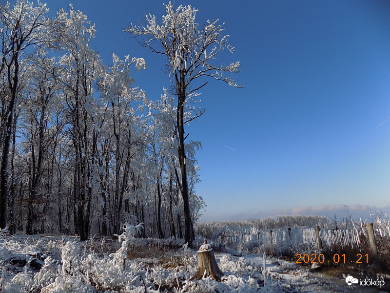
[[[183,237],[174,98],[148,100],[133,85],[142,58],[113,54],[107,68],[82,12],[47,14],[40,3],[0,5],[0,228],[85,240],[127,221],[144,223],[139,236]],[[185,144],[192,227],[205,207],[200,146]]]

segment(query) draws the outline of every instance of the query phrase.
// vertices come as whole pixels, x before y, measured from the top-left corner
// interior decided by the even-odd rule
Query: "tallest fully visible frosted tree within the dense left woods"
[[[61,84],[69,110],[69,133],[74,158],[74,222],[81,241],[90,231],[91,201],[93,192],[98,125],[94,120],[94,84],[103,68],[99,55],[90,48],[95,27],[81,11],[69,6],[60,9],[51,22],[53,49],[63,52],[59,62],[63,67]]]

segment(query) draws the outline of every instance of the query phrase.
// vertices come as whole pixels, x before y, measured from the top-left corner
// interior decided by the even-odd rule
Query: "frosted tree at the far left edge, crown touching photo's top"
[[[0,75],[3,80],[1,97],[1,167],[0,167],[0,229],[6,226],[6,202],[8,193],[8,161],[14,109],[20,95],[20,72],[24,53],[42,42],[44,34],[43,15],[46,4],[34,5],[29,1],[18,0],[0,4]]]

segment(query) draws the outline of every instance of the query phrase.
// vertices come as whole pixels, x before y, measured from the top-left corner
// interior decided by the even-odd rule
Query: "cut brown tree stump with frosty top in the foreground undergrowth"
[[[218,268],[215,261],[214,251],[210,247],[210,244],[205,243],[199,248],[198,251],[198,270],[191,278],[201,279],[203,276],[211,276],[214,280],[220,281],[224,273]]]

